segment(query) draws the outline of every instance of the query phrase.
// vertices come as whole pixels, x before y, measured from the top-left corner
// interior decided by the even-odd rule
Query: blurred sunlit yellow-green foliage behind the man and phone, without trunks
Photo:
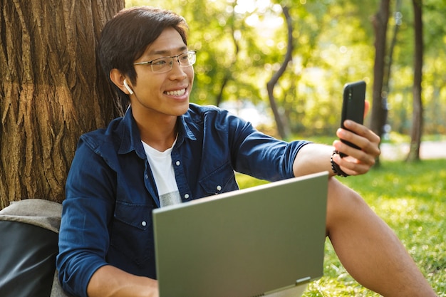
[[[345,83],[365,80],[366,97],[373,101],[372,20],[380,6],[378,0],[126,1],[126,6],[136,5],[160,6],[185,16],[190,25],[190,47],[199,51],[194,102],[221,105],[247,100],[269,106],[266,82],[279,70],[287,48],[281,6],[289,7],[293,21],[294,52],[274,96],[291,132],[303,137],[333,135],[339,126]],[[446,133],[446,0],[425,0],[422,8],[423,134],[441,135]],[[387,123],[393,131],[409,135],[415,55],[413,5],[403,1],[396,12],[395,1],[390,1],[387,47],[396,22],[399,27],[385,90]],[[385,56],[386,62],[389,58]],[[265,112],[273,118],[270,110]]]

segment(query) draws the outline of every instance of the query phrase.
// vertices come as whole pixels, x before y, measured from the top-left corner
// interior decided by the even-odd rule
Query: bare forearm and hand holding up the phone
[[[380,137],[372,132],[368,127],[346,120],[348,131],[339,128],[336,135],[351,142],[361,150],[349,147],[340,140],[335,140],[333,146],[308,144],[299,150],[293,163],[294,176],[299,177],[305,174],[328,171],[331,175],[331,156],[334,150],[343,152],[348,157],[341,158],[338,154],[333,155],[333,161],[341,167],[343,172],[350,175],[365,174],[375,164],[375,157],[380,154]]]

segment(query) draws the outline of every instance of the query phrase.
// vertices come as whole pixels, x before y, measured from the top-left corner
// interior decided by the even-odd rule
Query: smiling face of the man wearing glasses
[[[177,56],[187,50],[180,33],[175,28],[166,28],[135,63]],[[150,64],[135,65],[135,71],[135,94],[130,95],[133,113],[175,117],[186,113],[194,81],[192,66],[180,67],[177,58],[174,58],[172,69],[165,73],[152,72]]]

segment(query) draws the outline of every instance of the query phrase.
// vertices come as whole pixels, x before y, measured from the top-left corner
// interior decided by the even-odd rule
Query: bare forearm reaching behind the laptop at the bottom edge
[[[158,282],[135,276],[114,266],[102,266],[87,286],[88,297],[158,297]]]

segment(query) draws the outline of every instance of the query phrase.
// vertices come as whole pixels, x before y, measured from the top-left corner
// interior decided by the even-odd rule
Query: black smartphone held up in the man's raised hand
[[[365,105],[365,81],[360,80],[354,83],[346,83],[343,90],[343,103],[342,103],[342,113],[341,113],[341,127],[344,127],[345,120],[353,120],[353,122],[363,125],[364,123],[364,105]],[[346,140],[342,142],[359,149],[353,143]],[[341,157],[346,157],[346,154],[341,153]]]

